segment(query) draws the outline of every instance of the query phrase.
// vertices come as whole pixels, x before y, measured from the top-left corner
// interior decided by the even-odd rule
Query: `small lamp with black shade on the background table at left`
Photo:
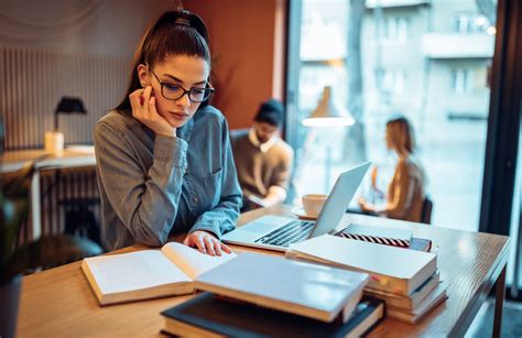
[[[46,152],[64,150],[64,134],[58,131],[58,116],[61,113],[87,113],[84,102],[77,97],[62,97],[54,110],[54,131],[45,132],[44,148]]]

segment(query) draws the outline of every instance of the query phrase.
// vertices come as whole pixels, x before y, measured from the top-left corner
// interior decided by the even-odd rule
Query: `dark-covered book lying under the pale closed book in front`
[[[162,332],[180,337],[361,337],[382,319],[384,304],[365,297],[349,320],[338,324],[202,293],[161,315],[165,319]]]

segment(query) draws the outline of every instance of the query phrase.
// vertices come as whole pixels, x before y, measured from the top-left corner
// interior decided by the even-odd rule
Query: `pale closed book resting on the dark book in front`
[[[197,290],[323,321],[346,320],[368,274],[246,252],[199,275]]]

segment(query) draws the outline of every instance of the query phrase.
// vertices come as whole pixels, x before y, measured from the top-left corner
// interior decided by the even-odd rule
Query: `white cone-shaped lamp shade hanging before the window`
[[[303,120],[306,127],[347,127],[356,122],[349,111],[334,101],[331,87],[325,87],[319,103],[311,113],[309,118]]]

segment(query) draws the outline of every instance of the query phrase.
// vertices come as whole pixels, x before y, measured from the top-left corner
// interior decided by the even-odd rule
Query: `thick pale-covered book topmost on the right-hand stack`
[[[367,272],[371,276],[368,287],[402,295],[411,295],[437,269],[434,253],[330,235],[291,244],[286,257]]]

